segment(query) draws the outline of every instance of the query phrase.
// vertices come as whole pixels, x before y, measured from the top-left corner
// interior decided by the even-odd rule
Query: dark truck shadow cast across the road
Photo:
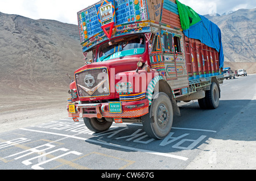
[[[208,144],[209,138],[255,141],[255,107],[256,100],[220,100],[216,110],[201,110],[197,102],[191,102],[180,106],[181,116],[174,117],[171,133],[163,140],[148,137],[140,124],[127,124],[104,133],[93,133],[86,142],[117,150],[135,148],[134,151],[175,153],[199,149]]]

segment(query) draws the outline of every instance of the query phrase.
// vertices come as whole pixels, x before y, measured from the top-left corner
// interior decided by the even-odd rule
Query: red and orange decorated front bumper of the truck
[[[69,117],[140,117],[148,113],[148,99],[138,100],[134,102],[121,102],[122,113],[110,113],[108,103],[95,104],[75,104],[76,113],[69,112],[69,105],[67,106]]]

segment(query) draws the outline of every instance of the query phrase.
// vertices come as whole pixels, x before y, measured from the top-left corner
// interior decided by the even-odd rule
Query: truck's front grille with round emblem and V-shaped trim
[[[77,92],[80,98],[108,96],[109,75],[107,68],[93,68],[75,74]]]

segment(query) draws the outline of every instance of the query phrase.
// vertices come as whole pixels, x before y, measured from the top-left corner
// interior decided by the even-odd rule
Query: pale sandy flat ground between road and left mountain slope
[[[68,88],[0,82],[0,133],[68,117]]]

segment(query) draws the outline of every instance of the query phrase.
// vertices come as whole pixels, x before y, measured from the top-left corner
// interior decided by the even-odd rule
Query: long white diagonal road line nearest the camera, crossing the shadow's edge
[[[173,154],[168,154],[168,153],[160,153],[160,152],[151,151],[151,150],[138,149],[138,148],[133,148],[133,147],[130,147],[130,146],[110,144],[108,142],[103,142],[103,141],[99,141],[99,140],[90,140],[90,138],[83,138],[83,137],[72,136],[72,135],[68,135],[68,134],[52,133],[52,132],[46,132],[46,131],[38,131],[38,130],[34,130],[34,129],[26,129],[26,128],[20,128],[20,129],[24,130],[24,131],[31,131],[31,132],[38,132],[38,133],[45,133],[45,134],[54,134],[54,135],[57,135],[57,136],[69,137],[69,138],[74,138],[74,139],[77,139],[77,140],[84,140],[84,141],[94,142],[94,143],[97,143],[97,144],[114,146],[114,147],[121,148],[121,149],[127,149],[127,150],[139,151],[139,152],[142,152],[142,153],[150,153],[150,154],[160,155],[160,156],[164,156],[164,157],[181,159],[183,161],[188,160],[188,158],[181,157],[181,156],[178,156],[178,155],[173,155]]]

